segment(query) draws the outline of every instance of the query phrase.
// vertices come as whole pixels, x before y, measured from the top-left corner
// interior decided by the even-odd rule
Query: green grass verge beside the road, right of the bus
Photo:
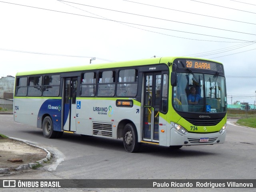
[[[228,118],[238,119],[237,123],[242,126],[256,128],[256,110],[228,110]]]

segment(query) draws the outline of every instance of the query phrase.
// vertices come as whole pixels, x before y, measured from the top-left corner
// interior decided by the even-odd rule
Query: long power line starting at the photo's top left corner
[[[3,1],[0,1],[0,2],[3,2]],[[9,3],[9,2],[3,2],[3,3]],[[9,4],[14,4],[14,3],[9,3]],[[26,6],[26,5],[21,5],[21,4],[15,4],[15,5]],[[38,8],[38,7],[32,7],[32,6],[26,6],[26,7]],[[56,10],[50,10],[50,9],[44,9],[44,8],[38,8],[38,9],[55,11],[55,12],[66,13],[66,14],[72,14],[72,15],[76,15],[76,16],[96,18],[96,17],[92,17],[92,16],[85,16],[85,15],[80,15],[80,14],[74,14],[74,13],[68,13],[68,12],[62,12],[62,11],[56,11]],[[213,35],[206,35],[206,34],[198,34],[198,33],[192,33],[192,32],[179,31],[179,30],[172,30],[172,29],[166,29],[166,28],[160,28],[160,27],[154,27],[154,26],[146,26],[146,25],[142,25],[142,24],[134,24],[134,23],[129,23],[129,22],[117,21],[117,20],[109,20],[109,19],[104,19],[104,18],[96,18],[96,19],[120,22],[120,23],[125,23],[125,24],[138,25],[138,26],[144,26],[144,27],[150,27],[150,28],[156,28],[156,29],[162,29],[162,30],[170,30],[170,31],[183,32],[183,33],[189,33],[189,34],[196,34],[196,35],[202,35],[202,36],[210,36],[210,37],[224,38],[224,39],[230,39],[230,40],[238,40],[238,41],[244,41],[244,42],[253,42],[253,41],[248,41],[248,40],[240,40],[240,39],[234,39],[234,38],[227,38],[227,37],[220,37],[220,36],[213,36]]]

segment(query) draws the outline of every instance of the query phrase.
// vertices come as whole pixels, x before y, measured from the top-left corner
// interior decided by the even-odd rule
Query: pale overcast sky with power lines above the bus
[[[196,56],[224,64],[228,104],[254,104],[255,0],[67,1],[0,1],[0,76]]]

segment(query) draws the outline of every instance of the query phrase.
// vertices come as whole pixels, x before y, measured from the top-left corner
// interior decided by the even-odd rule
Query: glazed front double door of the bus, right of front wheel
[[[143,140],[159,142],[161,73],[147,73],[144,79]]]

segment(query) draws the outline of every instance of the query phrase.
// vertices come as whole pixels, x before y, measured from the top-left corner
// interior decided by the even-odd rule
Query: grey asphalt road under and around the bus
[[[186,146],[177,151],[142,144],[140,152],[128,153],[122,140],[67,133],[62,138],[47,139],[41,129],[14,122],[12,115],[0,114],[1,134],[26,140],[55,154],[54,162],[41,170],[6,178],[256,179],[256,129],[235,126],[234,121],[228,120],[224,144]],[[208,190],[211,189],[204,189]],[[230,189],[223,189],[227,190]]]

